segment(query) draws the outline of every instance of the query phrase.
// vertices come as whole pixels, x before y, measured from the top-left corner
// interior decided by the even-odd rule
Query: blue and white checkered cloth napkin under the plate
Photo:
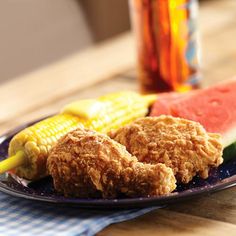
[[[106,226],[150,212],[95,211],[15,198],[0,192],[0,235],[94,235]]]

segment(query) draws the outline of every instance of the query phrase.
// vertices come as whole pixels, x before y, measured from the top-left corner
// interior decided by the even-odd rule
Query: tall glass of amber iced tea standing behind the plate
[[[198,87],[196,0],[130,0],[143,93]]]

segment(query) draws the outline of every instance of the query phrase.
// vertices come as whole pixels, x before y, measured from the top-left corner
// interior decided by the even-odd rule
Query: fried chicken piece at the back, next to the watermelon
[[[140,118],[109,136],[144,163],[164,163],[176,179],[188,183],[198,173],[208,177],[223,162],[221,137],[200,123],[172,116]]]

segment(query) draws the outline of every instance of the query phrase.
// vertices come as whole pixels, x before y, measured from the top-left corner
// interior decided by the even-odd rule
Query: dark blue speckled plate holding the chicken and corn
[[[31,124],[21,126],[13,132],[0,137],[0,157],[2,160],[7,157],[8,144],[13,135],[29,125]],[[55,192],[50,177],[26,184],[22,179],[16,180],[7,174],[0,175],[0,191],[12,196],[43,202],[103,209],[163,206],[199,195],[209,194],[234,185],[236,185],[236,158],[223,163],[217,169],[212,169],[209,178],[206,180],[195,177],[189,184],[178,185],[176,191],[168,196],[151,198],[119,198],[114,200],[65,198]]]

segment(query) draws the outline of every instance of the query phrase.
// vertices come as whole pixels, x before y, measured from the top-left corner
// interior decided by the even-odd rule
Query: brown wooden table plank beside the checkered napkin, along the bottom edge
[[[230,223],[159,209],[116,227],[109,226],[98,235],[215,236],[235,233],[236,226]]]

